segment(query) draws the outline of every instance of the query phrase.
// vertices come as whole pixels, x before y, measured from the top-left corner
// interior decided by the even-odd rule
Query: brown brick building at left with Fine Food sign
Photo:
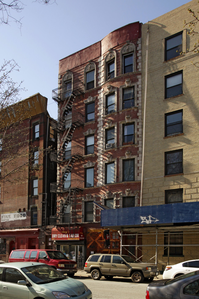
[[[57,137],[51,128],[52,119],[47,112],[47,98],[38,93],[9,106],[6,111],[5,124],[13,118],[17,122],[17,115],[23,115],[17,129],[19,138],[12,144],[13,151],[17,148],[21,155],[17,155],[14,166],[8,163],[3,167],[7,159],[7,145],[6,140],[1,139],[2,177],[9,168],[23,164],[24,167],[22,179],[18,179],[17,171],[12,174],[12,182],[6,178],[1,180],[0,259],[4,261],[8,261],[13,248],[53,248],[53,243],[49,242],[51,231],[47,229],[47,224],[55,211],[55,196],[50,192],[50,183],[56,179],[57,168],[56,163],[51,162],[49,152],[41,153],[42,149],[57,146]],[[26,163],[28,159],[30,162]]]

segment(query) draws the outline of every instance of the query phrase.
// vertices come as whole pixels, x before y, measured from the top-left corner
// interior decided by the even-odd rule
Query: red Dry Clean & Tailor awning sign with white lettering
[[[83,228],[52,228],[52,240],[84,240]]]

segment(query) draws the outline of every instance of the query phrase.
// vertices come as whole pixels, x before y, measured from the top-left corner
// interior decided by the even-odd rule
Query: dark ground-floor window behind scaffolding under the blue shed
[[[183,233],[175,232],[168,234],[164,233],[164,245],[168,245],[169,236],[169,255],[183,255],[183,247],[175,245],[183,245]],[[172,246],[173,245],[173,246]],[[168,255],[168,246],[164,247],[164,255]]]

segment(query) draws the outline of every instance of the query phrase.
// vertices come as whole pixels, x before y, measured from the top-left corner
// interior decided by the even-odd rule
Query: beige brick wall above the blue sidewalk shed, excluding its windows
[[[142,205],[164,204],[164,190],[183,188],[183,201],[199,200],[199,54],[186,53],[164,61],[164,40],[183,31],[183,51],[198,36],[190,37],[184,20],[193,19],[187,9],[198,11],[193,0],[142,26],[142,107],[145,99],[146,36],[148,42],[148,73],[145,117],[145,148]],[[164,77],[183,70],[183,94],[164,99]],[[164,138],[165,113],[183,109],[183,134]],[[142,120],[144,111],[142,112]],[[142,122],[142,128],[144,123]],[[183,174],[164,175],[164,153],[183,149]]]

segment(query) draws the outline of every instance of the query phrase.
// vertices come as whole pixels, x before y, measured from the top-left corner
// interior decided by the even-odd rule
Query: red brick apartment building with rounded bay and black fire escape
[[[101,209],[140,205],[141,24],[135,22],[59,61],[57,213],[52,240],[69,258],[119,253],[118,229],[106,245]],[[127,242],[135,243],[128,237]]]

